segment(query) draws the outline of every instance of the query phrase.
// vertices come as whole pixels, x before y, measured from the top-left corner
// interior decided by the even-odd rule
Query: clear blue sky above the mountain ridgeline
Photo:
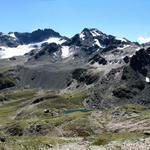
[[[73,36],[83,28],[136,41],[150,37],[150,0],[1,0],[0,31],[52,28]]]

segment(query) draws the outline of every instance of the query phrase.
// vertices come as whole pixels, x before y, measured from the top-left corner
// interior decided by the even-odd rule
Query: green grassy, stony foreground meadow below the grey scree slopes
[[[150,111],[139,105],[84,111],[88,92],[0,94],[2,150],[149,150]],[[65,113],[71,111],[69,113]]]

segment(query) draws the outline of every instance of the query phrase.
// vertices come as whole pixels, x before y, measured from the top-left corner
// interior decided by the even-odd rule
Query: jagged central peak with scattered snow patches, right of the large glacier
[[[87,28],[72,38],[65,38],[60,41],[62,43],[53,41],[55,46],[52,43],[43,43],[41,47],[28,53],[29,62],[38,60],[56,63],[68,60],[72,63],[87,63],[94,55],[101,55],[107,60],[108,68],[111,68],[112,66],[116,67],[116,64],[123,65],[123,58],[132,57],[141,47],[127,39],[106,35],[97,29]],[[92,65],[96,65],[96,63]]]

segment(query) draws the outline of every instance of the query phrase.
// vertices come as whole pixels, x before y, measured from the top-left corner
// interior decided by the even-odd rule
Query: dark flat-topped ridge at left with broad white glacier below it
[[[32,33],[1,33],[0,58],[21,56],[33,49],[40,49],[44,43],[62,44],[65,41],[65,37],[51,29],[36,30]]]

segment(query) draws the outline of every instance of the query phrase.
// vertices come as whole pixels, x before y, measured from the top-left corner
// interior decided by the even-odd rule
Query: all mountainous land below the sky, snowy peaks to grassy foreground
[[[149,124],[149,43],[0,33],[0,149],[149,150]]]

